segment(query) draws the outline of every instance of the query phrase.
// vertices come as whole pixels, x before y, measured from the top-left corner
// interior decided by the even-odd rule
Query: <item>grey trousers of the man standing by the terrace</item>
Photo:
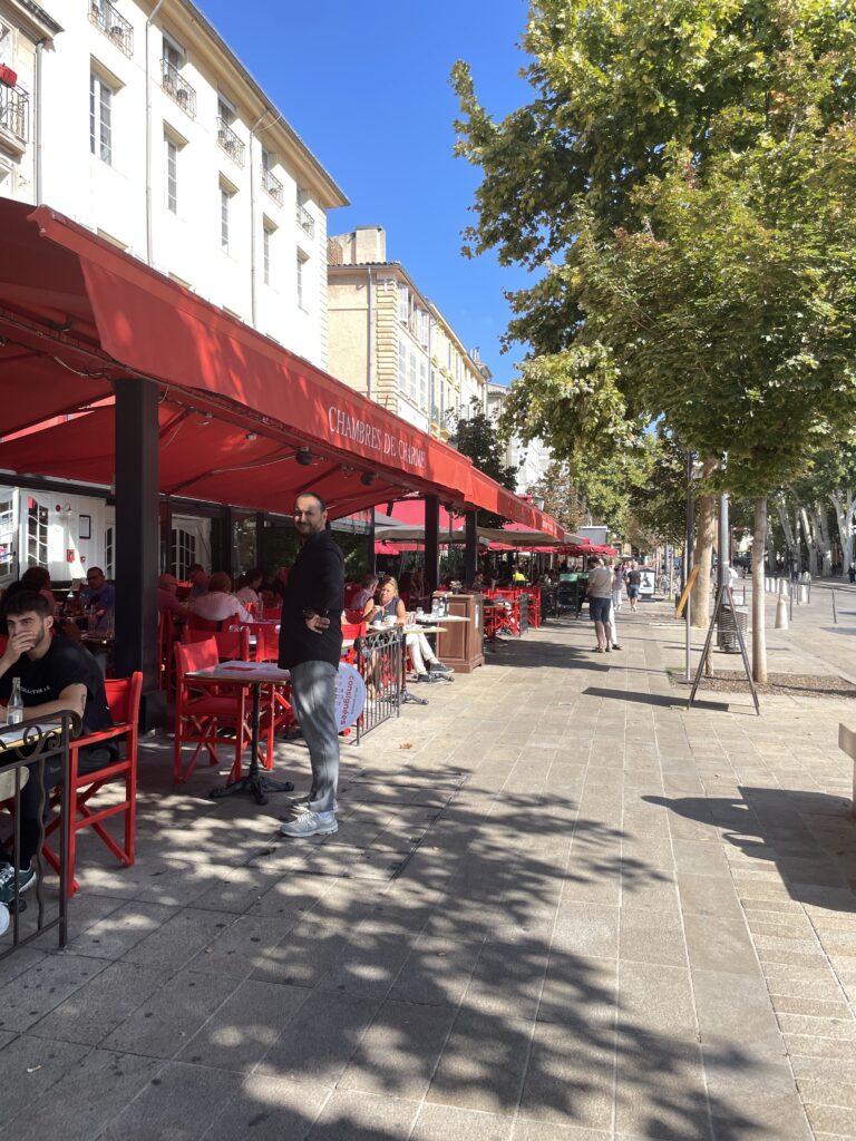
[[[339,730],[336,725],[336,679],[329,662],[301,662],[291,666],[291,703],[309,747],[313,812],[336,809],[339,782]]]

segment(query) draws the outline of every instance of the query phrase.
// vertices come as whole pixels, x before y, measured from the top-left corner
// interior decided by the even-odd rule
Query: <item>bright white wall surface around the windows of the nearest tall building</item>
[[[146,11],[134,0],[115,0],[134,27],[129,58],[89,19],[87,0],[45,0],[64,32],[45,56],[42,147],[43,201],[74,220],[118,241],[146,259]],[[170,6],[168,11],[172,13]],[[283,165],[276,139],[261,133],[277,154],[273,168],[282,183],[282,204],[263,188],[261,141],[250,137],[256,123],[248,107],[256,97],[218,76],[183,35],[180,23],[165,29],[187,49],[180,74],[196,92],[192,119],[162,89],[163,29],[148,31],[151,96],[152,265],[187,283],[196,293],[252,324],[255,252],[256,327],[321,367],[326,365],[326,217],[314,200],[305,203],[314,221],[310,236],[298,224],[299,173]],[[110,164],[90,153],[89,76],[102,74],[114,88]],[[236,106],[232,124],[244,144],[239,165],[218,144],[218,91]],[[264,124],[263,124],[264,126]],[[177,211],[167,207],[164,131],[180,145]],[[229,200],[228,249],[220,241],[220,185]],[[264,282],[264,217],[275,227],[270,243],[270,284]],[[251,235],[255,230],[255,251]],[[297,305],[298,248],[307,256],[304,307]]]

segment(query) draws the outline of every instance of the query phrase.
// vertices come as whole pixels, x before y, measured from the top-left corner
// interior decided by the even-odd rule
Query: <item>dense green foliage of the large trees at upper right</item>
[[[856,412],[856,23],[841,0],[541,0],[532,103],[494,122],[463,64],[473,252],[541,276],[506,424],[560,458],[656,421],[759,496]]]

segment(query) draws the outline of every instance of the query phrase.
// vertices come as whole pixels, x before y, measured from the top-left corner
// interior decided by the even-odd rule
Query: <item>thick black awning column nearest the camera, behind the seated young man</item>
[[[158,688],[158,387],[148,380],[114,381],[116,486],[115,671],[143,671],[144,728],[162,725]]]

